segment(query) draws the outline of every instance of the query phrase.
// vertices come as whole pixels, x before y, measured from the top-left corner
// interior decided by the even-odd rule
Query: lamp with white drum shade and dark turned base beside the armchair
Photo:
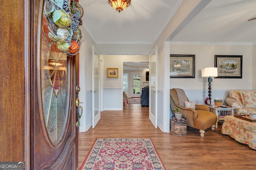
[[[202,77],[208,77],[208,85],[209,85],[209,87],[208,87],[208,92],[209,92],[209,94],[208,94],[208,96],[209,96],[209,98],[206,98],[205,99],[205,104],[206,105],[210,105],[212,102],[211,102],[211,96],[212,96],[212,94],[211,94],[211,90],[212,90],[212,88],[211,88],[211,86],[212,86],[212,77],[217,77],[218,76],[218,70],[217,70],[217,67],[207,67],[207,68],[202,68],[201,69],[202,70]]]

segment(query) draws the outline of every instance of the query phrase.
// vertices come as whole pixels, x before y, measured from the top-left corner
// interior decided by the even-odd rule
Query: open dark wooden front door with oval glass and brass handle
[[[78,55],[68,56],[48,38],[44,0],[38,8],[31,169],[78,167]]]

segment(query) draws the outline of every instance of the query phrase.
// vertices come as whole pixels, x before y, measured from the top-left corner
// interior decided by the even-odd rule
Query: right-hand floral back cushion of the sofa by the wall
[[[256,91],[243,90],[240,92],[244,107],[256,107]]]

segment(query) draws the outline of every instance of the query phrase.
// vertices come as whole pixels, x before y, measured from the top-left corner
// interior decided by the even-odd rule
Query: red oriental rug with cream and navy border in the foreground
[[[98,138],[79,170],[166,170],[150,138]]]

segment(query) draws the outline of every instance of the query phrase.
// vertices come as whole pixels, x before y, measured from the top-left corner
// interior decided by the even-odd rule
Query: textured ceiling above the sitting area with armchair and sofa
[[[172,41],[256,42],[256,0],[212,0]]]

